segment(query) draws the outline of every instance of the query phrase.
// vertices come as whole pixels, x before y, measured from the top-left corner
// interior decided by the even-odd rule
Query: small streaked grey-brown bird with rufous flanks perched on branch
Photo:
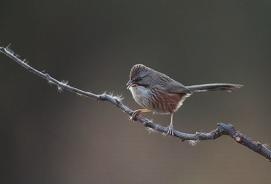
[[[131,68],[130,80],[126,84],[133,95],[133,99],[144,109],[138,109],[133,112],[132,119],[141,112],[153,111],[157,114],[170,114],[170,126],[167,133],[174,135],[173,114],[180,108],[183,101],[189,97],[192,92],[206,92],[226,90],[231,92],[243,85],[229,83],[212,83],[202,85],[184,86],[174,81],[169,76],[157,72],[154,69],[142,64],[134,65]]]

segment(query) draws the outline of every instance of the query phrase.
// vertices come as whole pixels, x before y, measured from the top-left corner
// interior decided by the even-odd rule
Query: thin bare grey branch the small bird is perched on
[[[117,108],[120,108],[123,112],[125,112],[127,115],[132,115],[133,110],[125,106],[120,99],[117,97],[113,97],[113,95],[109,94],[93,94],[92,92],[85,92],[83,90],[79,90],[76,87],[72,87],[71,85],[67,84],[67,81],[58,81],[56,78],[51,77],[49,74],[40,72],[37,69],[31,67],[27,64],[26,60],[21,60],[19,58],[19,55],[17,55],[14,51],[9,49],[8,47],[2,47],[0,46],[0,52],[17,62],[22,67],[28,69],[28,71],[33,72],[34,74],[46,79],[49,81],[49,83],[53,83],[58,86],[58,89],[65,89],[69,90],[70,92],[74,92],[75,94],[79,94],[84,97],[89,97],[91,99],[96,99],[99,101],[108,101],[109,103],[112,103]],[[153,128],[156,131],[160,131],[161,133],[167,133],[168,127],[161,126],[158,124],[155,124],[154,122],[151,122],[151,120],[142,117],[140,115],[136,116],[136,120],[138,122],[142,123],[144,126]],[[215,140],[216,138],[222,136],[222,135],[228,135],[229,137],[233,138],[236,142],[239,144],[243,144],[245,147],[252,149],[256,153],[261,154],[265,158],[271,161],[271,151],[267,149],[263,144],[260,142],[256,142],[252,140],[251,138],[247,137],[246,135],[236,131],[236,128],[233,127],[231,124],[223,124],[218,123],[217,128],[209,133],[182,133],[179,131],[174,131],[174,137],[179,137],[181,141],[190,140],[190,141],[198,141],[198,140]]]

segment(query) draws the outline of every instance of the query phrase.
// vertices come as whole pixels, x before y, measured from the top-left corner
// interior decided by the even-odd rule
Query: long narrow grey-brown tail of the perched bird
[[[240,84],[227,84],[227,83],[214,83],[214,84],[200,84],[200,85],[190,85],[186,86],[192,92],[206,92],[206,91],[220,91],[226,90],[231,92],[237,90],[243,85]]]

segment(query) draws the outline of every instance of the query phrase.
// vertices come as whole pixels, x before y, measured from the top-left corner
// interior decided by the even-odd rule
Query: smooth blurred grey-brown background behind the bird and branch
[[[197,93],[176,130],[231,123],[271,143],[270,1],[1,1],[0,40],[59,80],[122,94],[143,63],[184,85],[241,83]],[[270,162],[229,137],[188,142],[149,134],[106,102],[56,86],[0,55],[0,183],[270,183]],[[167,126],[170,116],[146,114]]]

